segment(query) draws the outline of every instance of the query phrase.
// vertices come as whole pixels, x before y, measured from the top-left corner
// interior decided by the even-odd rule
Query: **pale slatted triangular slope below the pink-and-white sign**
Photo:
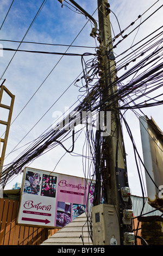
[[[92,245],[88,223],[84,212],[41,245]]]

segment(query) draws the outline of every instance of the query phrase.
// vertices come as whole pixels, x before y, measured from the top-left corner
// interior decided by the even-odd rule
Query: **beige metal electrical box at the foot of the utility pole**
[[[93,245],[121,245],[117,206],[99,204],[92,207]]]

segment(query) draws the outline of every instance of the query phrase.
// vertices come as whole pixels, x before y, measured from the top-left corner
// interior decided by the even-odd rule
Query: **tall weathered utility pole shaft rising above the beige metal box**
[[[104,104],[102,108],[105,111],[111,110],[111,135],[103,138],[102,147],[102,173],[104,179],[104,187],[106,192],[106,203],[118,205],[118,194],[116,184],[116,145],[117,145],[117,112],[114,110],[117,103],[111,105],[111,109],[107,108],[105,98],[117,91],[116,84],[112,86],[112,82],[116,79],[115,60],[112,53],[112,37],[109,19],[109,7],[107,0],[98,0],[98,19],[99,19],[99,67],[101,68],[101,87],[103,93]],[[118,127],[120,131],[120,127]],[[119,145],[118,145],[119,151]],[[118,167],[124,169],[123,156],[118,152]]]

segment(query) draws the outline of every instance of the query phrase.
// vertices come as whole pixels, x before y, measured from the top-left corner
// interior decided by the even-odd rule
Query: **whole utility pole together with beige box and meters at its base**
[[[122,136],[118,99],[105,100],[117,92],[116,65],[112,51],[110,26],[110,4],[108,0],[97,0],[99,20],[98,51],[99,84],[102,88],[102,109],[111,111],[111,134],[103,137],[101,147],[101,176],[104,189],[104,204],[92,208],[94,245],[132,245],[135,237],[131,231],[130,190],[127,178],[126,153]],[[111,105],[110,105],[111,103]]]

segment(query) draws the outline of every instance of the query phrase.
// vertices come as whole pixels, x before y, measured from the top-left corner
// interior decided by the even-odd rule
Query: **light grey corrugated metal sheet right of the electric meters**
[[[142,206],[143,206],[143,197],[131,196],[131,201],[133,203],[133,212],[134,216],[140,216]],[[145,198],[145,207],[143,209],[143,216],[161,216],[162,212],[155,209],[148,204],[148,198]],[[151,212],[153,211],[153,212]],[[147,212],[150,212],[147,214]],[[145,215],[144,215],[145,214]]]

